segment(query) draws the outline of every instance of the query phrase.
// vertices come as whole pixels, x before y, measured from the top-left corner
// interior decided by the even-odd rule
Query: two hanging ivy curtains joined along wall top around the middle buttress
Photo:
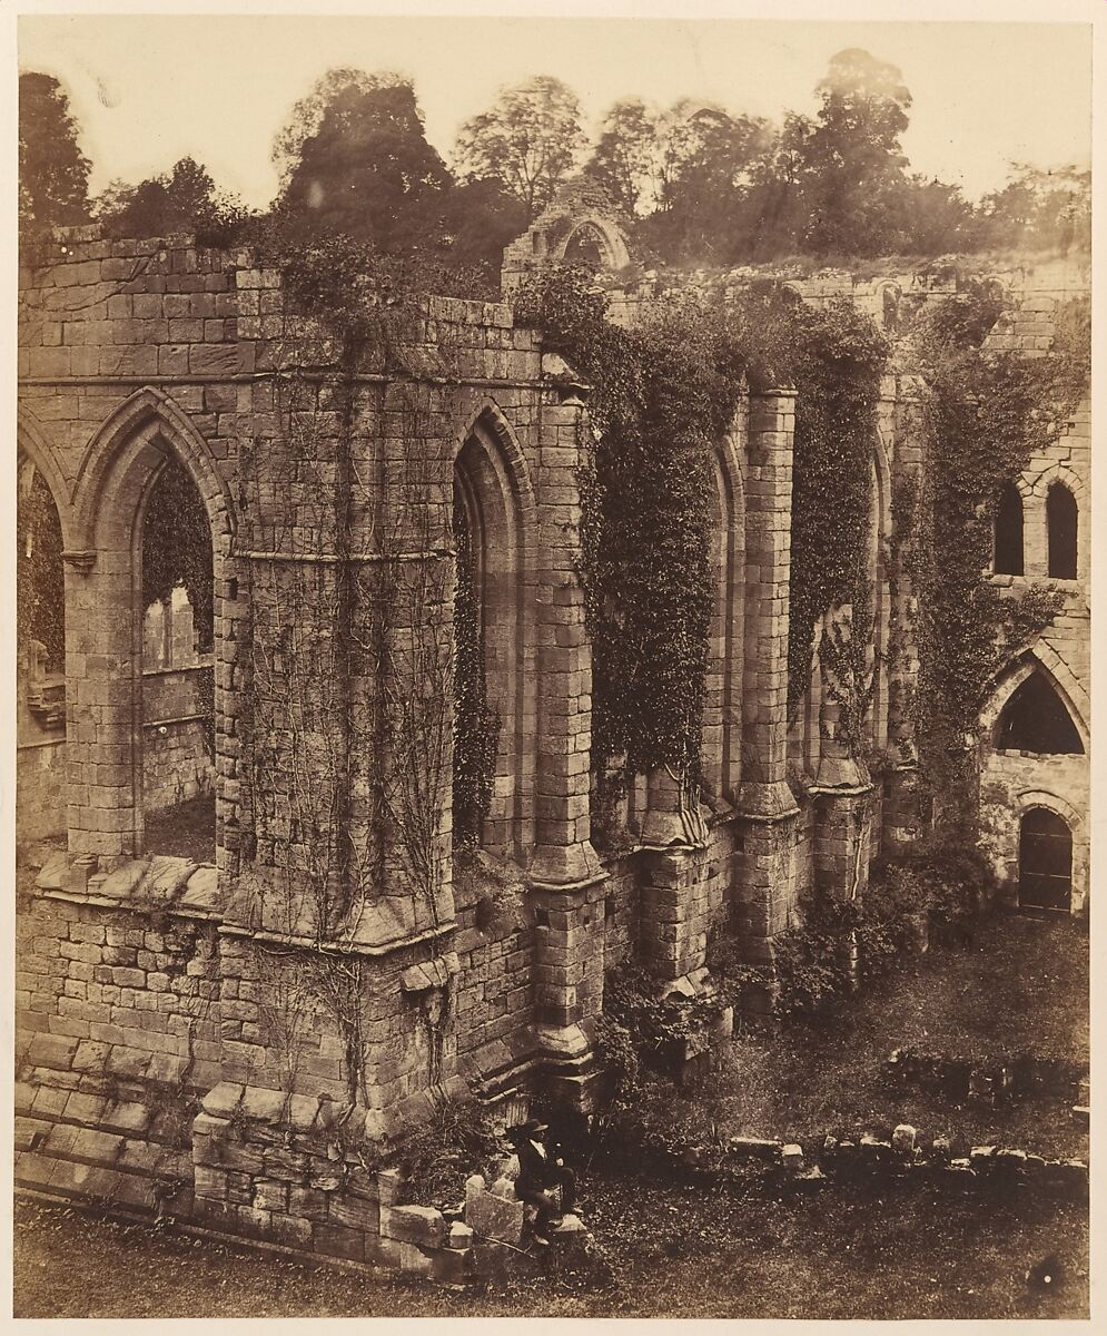
[[[589,275],[562,267],[521,293],[538,327],[592,386],[598,442],[580,472],[582,574],[593,643],[593,767],[700,770],[709,570],[710,452],[746,379],[799,390],[792,512],[789,708],[811,676],[819,619],[853,607],[840,647],[855,683],[851,736],[867,708],[857,647],[871,619],[868,544],[876,399],[887,345],[849,303],[807,307],[781,285],[737,298],[670,298],[614,325]],[[845,672],[851,669],[851,673]]]

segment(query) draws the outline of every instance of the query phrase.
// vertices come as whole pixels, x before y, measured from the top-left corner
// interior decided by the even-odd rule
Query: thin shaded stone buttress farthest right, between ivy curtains
[[[889,383],[891,382],[891,383]],[[920,500],[925,424],[917,377],[887,377],[892,391],[892,534],[888,552],[888,751],[884,776],[881,847],[887,854],[909,848],[921,832],[919,752],[915,741],[913,693],[919,675],[915,640],[916,599],[911,581],[911,544]]]

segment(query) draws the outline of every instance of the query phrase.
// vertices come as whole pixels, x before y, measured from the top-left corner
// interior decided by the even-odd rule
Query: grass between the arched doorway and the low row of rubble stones
[[[801,1141],[911,1122],[957,1146],[1087,1156],[1072,1097],[952,1106],[887,1081],[883,1063],[901,1046],[965,1058],[1030,1049],[1087,1063],[1087,933],[1070,919],[998,914],[971,943],[935,946],[819,1023],[746,1029],[716,1081],[720,1118],[730,1133]]]

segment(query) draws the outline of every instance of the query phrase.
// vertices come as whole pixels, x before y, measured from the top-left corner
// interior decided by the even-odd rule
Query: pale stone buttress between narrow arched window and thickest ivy
[[[581,393],[581,386],[566,385],[541,406],[535,843],[527,866],[535,1039],[547,1079],[576,1102],[586,1098],[592,1070],[582,1023],[602,1006],[606,878],[592,846],[589,814],[592,648],[577,573],[577,470],[592,426]]]

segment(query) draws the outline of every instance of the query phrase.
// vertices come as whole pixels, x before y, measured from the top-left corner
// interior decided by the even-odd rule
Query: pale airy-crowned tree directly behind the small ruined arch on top
[[[581,104],[550,75],[501,91],[495,106],[458,132],[455,158],[470,178],[494,178],[534,218],[568,179],[585,147]]]

